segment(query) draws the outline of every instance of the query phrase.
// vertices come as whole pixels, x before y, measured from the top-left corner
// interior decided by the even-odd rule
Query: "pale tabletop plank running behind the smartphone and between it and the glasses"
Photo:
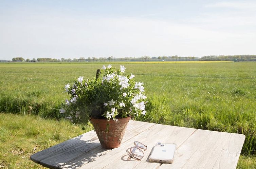
[[[180,128],[179,127],[175,127],[175,128],[166,128],[168,129],[168,133],[166,134],[166,136],[158,139],[158,140],[154,140],[153,142],[151,142],[151,145],[149,147],[149,150],[151,151],[153,146],[157,143],[157,142],[162,142],[162,143],[175,143],[177,144],[177,147],[180,147],[191,135],[193,135],[194,132],[196,132],[196,129],[191,129],[191,128]],[[149,162],[149,154],[150,151],[148,151],[145,155],[146,158],[143,159],[143,161],[137,165],[136,167],[134,167],[134,169],[155,169],[155,168],[159,168],[160,167],[160,163],[151,163]]]

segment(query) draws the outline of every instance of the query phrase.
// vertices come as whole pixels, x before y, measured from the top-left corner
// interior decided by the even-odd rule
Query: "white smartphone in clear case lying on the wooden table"
[[[149,155],[149,161],[170,164],[173,162],[176,148],[176,144],[157,143]]]

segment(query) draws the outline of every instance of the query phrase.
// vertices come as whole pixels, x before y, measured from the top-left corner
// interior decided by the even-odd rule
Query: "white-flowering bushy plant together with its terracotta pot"
[[[76,124],[90,120],[104,148],[119,147],[128,121],[146,113],[143,83],[135,82],[133,74],[125,76],[125,70],[103,65],[95,78],[80,76],[65,86],[70,98],[60,113]]]

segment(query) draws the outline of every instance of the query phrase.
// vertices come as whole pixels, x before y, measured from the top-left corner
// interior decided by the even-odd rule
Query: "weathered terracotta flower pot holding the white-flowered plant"
[[[107,119],[91,118],[101,146],[104,148],[119,147],[130,119],[131,117],[119,118],[116,122],[113,119],[108,121]]]

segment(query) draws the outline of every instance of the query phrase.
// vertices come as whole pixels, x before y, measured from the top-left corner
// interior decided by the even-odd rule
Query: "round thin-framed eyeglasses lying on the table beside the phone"
[[[134,158],[140,161],[145,156],[143,151],[147,150],[147,146],[137,141],[133,142],[133,144],[135,146],[130,148],[128,160]]]

